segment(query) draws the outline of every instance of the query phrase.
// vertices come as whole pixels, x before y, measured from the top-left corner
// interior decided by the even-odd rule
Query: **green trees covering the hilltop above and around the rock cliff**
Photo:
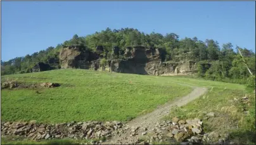
[[[103,46],[106,51],[112,51],[114,46],[118,46],[122,50],[128,46],[160,48],[165,52],[163,61],[197,61],[197,76],[205,79],[245,83],[246,79],[250,77],[246,65],[255,75],[255,53],[249,49],[234,47],[230,42],[219,46],[219,43],[212,39],[205,41],[200,41],[197,37],[179,39],[179,35],[174,33],[162,35],[151,32],[145,34],[134,28],[120,28],[119,30],[106,28],[106,30],[85,37],[75,34],[72,39],[58,44],[56,47],[51,46],[31,55],[27,54],[24,57],[1,61],[1,75],[29,72],[29,69],[38,62],[57,62],[62,46],[77,44],[91,51],[95,51],[96,46]],[[245,61],[238,50],[241,51]],[[59,67],[54,66],[56,69]]]

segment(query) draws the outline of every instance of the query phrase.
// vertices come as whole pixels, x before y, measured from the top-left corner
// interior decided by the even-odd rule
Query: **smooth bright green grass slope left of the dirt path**
[[[165,77],[77,69],[6,75],[1,79],[61,84],[56,88],[2,90],[4,121],[124,121],[192,90]]]

